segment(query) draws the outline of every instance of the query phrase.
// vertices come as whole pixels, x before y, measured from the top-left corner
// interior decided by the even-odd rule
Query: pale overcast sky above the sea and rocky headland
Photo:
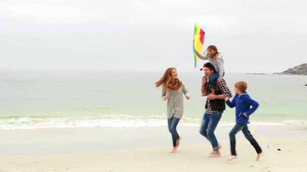
[[[194,69],[194,23],[225,71],[281,72],[307,62],[307,2],[0,0],[0,69]]]

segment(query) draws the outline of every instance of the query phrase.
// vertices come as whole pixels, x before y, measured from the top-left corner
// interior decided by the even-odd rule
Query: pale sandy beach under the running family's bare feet
[[[208,157],[211,147],[198,127],[178,128],[183,139],[173,154],[165,127],[0,131],[0,171],[307,171],[305,125],[250,126],[262,140],[261,161],[241,133],[238,159],[226,161],[230,128],[217,130],[219,158]]]

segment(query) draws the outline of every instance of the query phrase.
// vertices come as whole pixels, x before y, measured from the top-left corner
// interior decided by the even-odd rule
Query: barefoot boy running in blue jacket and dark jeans
[[[252,100],[249,95],[246,93],[247,83],[244,81],[236,82],[235,85],[235,97],[230,102],[229,98],[226,98],[226,104],[230,108],[236,107],[236,125],[229,133],[230,138],[230,149],[231,156],[227,160],[233,160],[237,158],[236,153],[236,138],[235,135],[242,130],[245,138],[250,142],[250,144],[254,147],[257,152],[257,159],[260,160],[260,156],[262,154],[262,149],[257,143],[257,141],[253,138],[248,130],[247,124],[249,124],[249,116],[255,112],[255,110],[259,107],[259,103]],[[251,106],[251,108],[250,108]]]

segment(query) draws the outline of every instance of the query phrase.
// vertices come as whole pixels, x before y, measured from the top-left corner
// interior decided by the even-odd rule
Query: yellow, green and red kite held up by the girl
[[[204,31],[195,23],[194,27],[194,41],[193,41],[193,54],[194,54],[194,67],[197,65],[199,57],[196,51],[201,53],[204,41]]]

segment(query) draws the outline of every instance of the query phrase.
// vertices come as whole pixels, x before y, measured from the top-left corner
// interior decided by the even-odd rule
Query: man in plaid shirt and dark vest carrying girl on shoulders
[[[208,78],[216,72],[211,63],[204,64],[203,70]],[[204,113],[202,117],[199,133],[206,137],[212,144],[213,152],[210,154],[210,157],[219,157],[221,156],[219,151],[220,146],[214,131],[226,108],[225,98],[231,98],[232,94],[223,78],[217,82],[217,88],[215,88],[216,95],[210,93],[211,89],[207,89],[207,91],[209,91],[209,93],[207,94],[206,113]]]

